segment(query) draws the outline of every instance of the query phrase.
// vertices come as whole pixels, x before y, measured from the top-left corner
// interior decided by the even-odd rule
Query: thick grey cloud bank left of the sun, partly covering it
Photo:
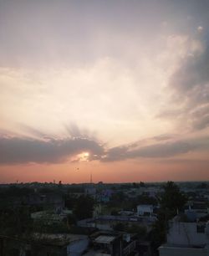
[[[97,141],[85,138],[47,141],[18,137],[0,138],[0,163],[57,163],[67,161],[83,151],[93,155],[103,154],[103,147]]]

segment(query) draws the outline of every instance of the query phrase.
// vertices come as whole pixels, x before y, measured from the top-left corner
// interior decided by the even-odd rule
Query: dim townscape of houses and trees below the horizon
[[[0,186],[0,255],[208,255],[209,182]]]

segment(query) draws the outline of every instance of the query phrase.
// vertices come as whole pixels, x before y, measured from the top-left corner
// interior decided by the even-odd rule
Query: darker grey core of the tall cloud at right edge
[[[188,56],[172,75],[170,86],[175,88],[180,100],[185,103],[185,116],[193,130],[209,125],[209,46],[194,56]],[[194,115],[199,112],[203,115]],[[195,117],[195,118],[194,118]]]

